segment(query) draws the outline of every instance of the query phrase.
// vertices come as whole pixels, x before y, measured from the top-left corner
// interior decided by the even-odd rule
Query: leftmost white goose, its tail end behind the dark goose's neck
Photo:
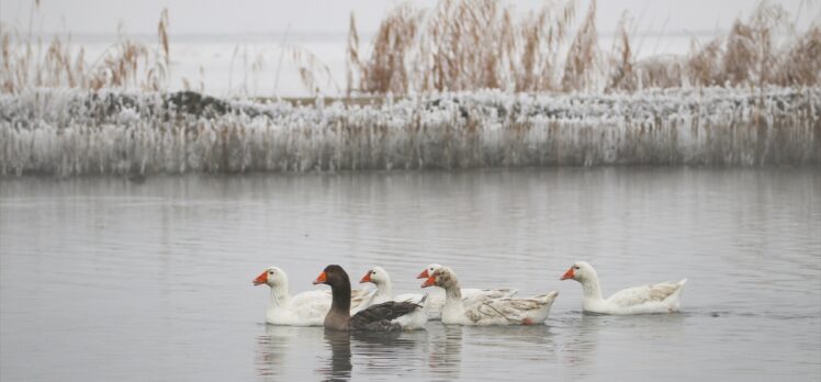
[[[267,284],[271,289],[271,301],[266,312],[266,322],[272,325],[322,326],[330,310],[331,295],[327,290],[306,291],[294,296],[288,291],[288,274],[277,267],[269,267],[254,279],[254,285]],[[370,297],[372,292],[355,290],[351,310]]]

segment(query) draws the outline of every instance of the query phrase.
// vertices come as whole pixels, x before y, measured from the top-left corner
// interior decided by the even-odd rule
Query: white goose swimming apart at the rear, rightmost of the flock
[[[585,312],[598,314],[645,314],[677,312],[679,297],[687,279],[677,283],[662,282],[623,289],[614,293],[609,299],[601,297],[601,286],[598,274],[593,267],[578,261],[570,267],[562,276],[562,280],[573,279],[582,284]]]

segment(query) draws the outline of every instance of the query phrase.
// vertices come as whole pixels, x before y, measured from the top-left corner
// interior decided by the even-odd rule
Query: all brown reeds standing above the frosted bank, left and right
[[[40,3],[32,7],[34,14]],[[606,50],[598,42],[596,0],[584,12],[580,7],[578,0],[549,1],[516,18],[514,5],[501,0],[441,0],[427,10],[400,3],[382,20],[367,49],[360,46],[351,14],[345,93],[632,92],[807,87],[818,86],[821,79],[821,24],[816,21],[799,31],[779,4],[760,2],[726,35],[707,42],[694,38],[685,55],[643,59],[637,58],[636,25],[627,14],[614,46]],[[82,47],[72,47],[70,35],[55,35],[44,44],[31,26],[21,34],[0,25],[0,91],[40,87],[166,91],[171,63],[168,27],[169,14],[162,10],[156,45],[134,42],[121,30],[103,56],[90,61]],[[319,88],[340,93],[320,57],[299,46],[282,49],[311,94],[318,94]],[[248,81],[254,82],[263,65],[261,57],[252,59],[250,69],[246,65],[240,94],[248,94]],[[183,88],[194,87],[183,79]],[[202,81],[199,88],[203,89]]]

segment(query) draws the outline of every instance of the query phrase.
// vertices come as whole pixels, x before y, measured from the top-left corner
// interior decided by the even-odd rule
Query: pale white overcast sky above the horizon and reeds
[[[0,0],[0,21],[27,30],[33,0]],[[373,32],[384,13],[398,1],[389,0],[42,0],[35,31],[69,31],[76,34],[113,33],[122,21],[128,33],[156,33],[159,12],[170,12],[170,34],[241,34],[284,32],[347,32],[353,11],[360,32]],[[799,24],[821,19],[819,2],[781,0]],[[429,8],[436,0],[414,2]],[[540,0],[514,1],[526,12]],[[727,30],[739,15],[747,15],[755,0],[599,0],[598,29],[612,31],[627,10],[639,21],[639,32],[713,32]],[[802,5],[803,4],[803,5]],[[809,5],[808,5],[809,4]],[[587,0],[582,0],[578,16]],[[665,26],[666,23],[666,26]]]

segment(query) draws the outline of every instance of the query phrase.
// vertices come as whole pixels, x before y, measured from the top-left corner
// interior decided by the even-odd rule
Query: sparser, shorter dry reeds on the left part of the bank
[[[34,19],[40,12],[40,2],[32,2]],[[169,13],[160,12],[157,23],[157,43],[146,44],[134,41],[122,25],[112,45],[99,57],[87,57],[82,46],[75,48],[70,34],[55,34],[44,44],[42,35],[35,36],[31,22],[24,33],[0,23],[0,92],[18,93],[35,88],[72,88],[98,91],[101,89],[139,90],[143,92],[165,92],[169,83],[171,56],[169,35]],[[330,69],[311,50],[284,41],[280,44],[282,57],[288,57],[296,68],[308,94],[317,96],[319,89],[331,93],[340,92]],[[239,63],[241,80],[232,82],[235,61]],[[282,63],[277,66],[277,77]],[[261,53],[249,57],[247,46],[235,46],[230,59],[228,79],[229,94],[249,97],[259,94],[259,75],[267,70]],[[204,92],[205,68],[199,70],[199,83],[193,79],[181,78],[183,90]],[[238,82],[238,83],[237,83]],[[277,92],[274,86],[273,92]]]

